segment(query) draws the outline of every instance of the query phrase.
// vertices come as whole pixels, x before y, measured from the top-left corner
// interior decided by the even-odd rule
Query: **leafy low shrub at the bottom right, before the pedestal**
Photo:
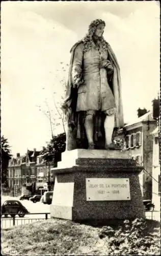
[[[102,227],[99,237],[106,239],[110,255],[159,255],[159,234],[146,236],[147,220],[125,220],[116,230]]]

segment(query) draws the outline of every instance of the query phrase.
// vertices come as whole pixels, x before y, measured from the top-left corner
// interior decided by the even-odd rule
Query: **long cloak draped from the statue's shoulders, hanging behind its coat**
[[[68,131],[67,131],[67,141],[66,141],[66,150],[74,150],[78,148],[77,142],[77,134],[80,133],[78,125],[78,118],[76,114],[76,103],[77,103],[77,88],[74,88],[74,84],[72,83],[72,67],[73,67],[73,59],[74,52],[76,47],[84,42],[80,40],[76,42],[76,44],[71,48],[71,58],[69,65],[69,75],[68,75],[68,83],[66,88],[66,97],[62,109],[64,110],[67,118]],[[116,113],[115,113],[115,127],[120,128],[124,125],[123,120],[123,107],[122,107],[122,98],[121,98],[121,77],[120,77],[120,67],[118,65],[117,58],[110,46],[110,44],[106,43],[108,46],[108,59],[112,62],[114,70],[112,79],[110,82],[110,87],[112,89],[115,105],[116,105]],[[81,135],[82,136],[82,135]]]

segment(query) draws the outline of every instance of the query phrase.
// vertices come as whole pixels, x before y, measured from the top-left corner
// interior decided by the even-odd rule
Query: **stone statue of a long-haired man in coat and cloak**
[[[71,49],[63,109],[68,122],[67,148],[115,149],[114,127],[122,127],[120,68],[103,38],[105,23],[94,20]]]

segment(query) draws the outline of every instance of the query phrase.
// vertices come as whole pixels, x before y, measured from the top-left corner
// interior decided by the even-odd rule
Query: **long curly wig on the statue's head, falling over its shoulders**
[[[97,29],[97,26],[103,24],[105,26],[105,22],[102,19],[95,19],[91,22],[87,35],[83,38],[84,41],[84,52],[90,51],[95,48],[95,44],[93,41],[93,35]],[[101,46],[103,50],[108,50],[108,42],[106,42],[103,36],[98,38],[98,44]]]

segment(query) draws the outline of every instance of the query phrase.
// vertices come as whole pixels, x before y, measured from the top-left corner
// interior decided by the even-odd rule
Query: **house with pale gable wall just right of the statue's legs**
[[[122,139],[124,150],[144,168],[139,175],[143,199],[152,198],[153,136],[151,133],[156,126],[156,120],[149,111],[134,122],[124,125],[123,129],[114,136],[116,141]]]

